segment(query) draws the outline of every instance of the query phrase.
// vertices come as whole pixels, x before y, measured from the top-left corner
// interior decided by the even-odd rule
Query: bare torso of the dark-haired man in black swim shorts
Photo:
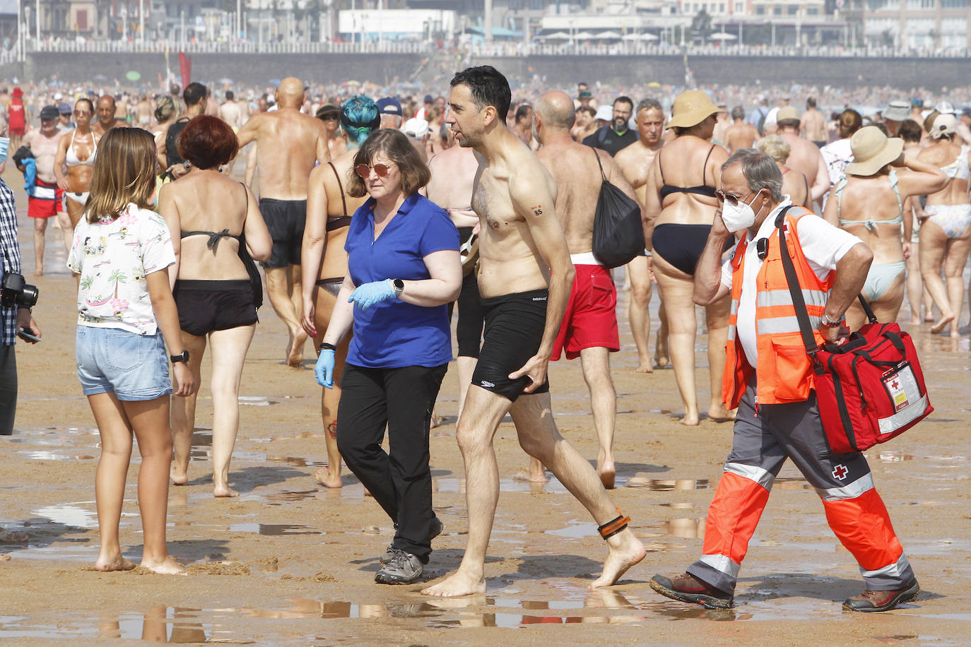
[[[483,298],[540,290],[550,286],[550,269],[540,256],[523,214],[514,208],[514,182],[545,185],[548,205],[528,205],[534,211],[554,210],[556,184],[536,155],[519,140],[506,144],[493,165],[476,153],[479,171],[472,208],[479,214],[479,292]]]

